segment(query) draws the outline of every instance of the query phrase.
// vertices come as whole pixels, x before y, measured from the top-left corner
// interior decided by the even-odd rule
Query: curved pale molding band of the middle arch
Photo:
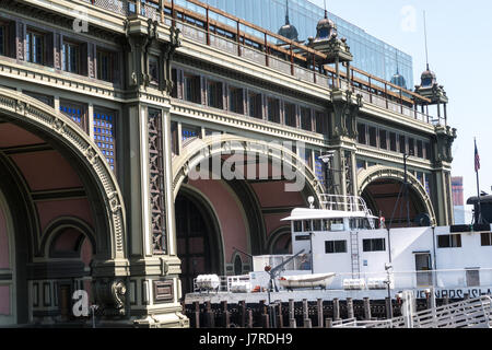
[[[218,145],[219,142],[220,145]],[[214,155],[236,151],[244,152],[245,154],[248,152],[262,153],[263,155],[268,155],[269,159],[285,162],[288,165],[293,166],[298,174],[304,176],[311,194],[315,196],[318,203],[320,202],[321,195],[324,194],[323,185],[314,172],[305,165],[304,160],[297,154],[288,150],[280,143],[231,135],[222,135],[219,141],[218,137],[214,136],[196,139],[181,150],[179,156],[173,159],[174,198],[176,198],[179,187],[188,176],[190,170],[196,168],[201,161]],[[302,164],[303,166],[300,167],[298,164]]]

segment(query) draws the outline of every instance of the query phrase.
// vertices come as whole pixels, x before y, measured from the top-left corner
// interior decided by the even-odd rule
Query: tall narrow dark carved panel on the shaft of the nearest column
[[[162,149],[161,113],[149,110],[149,190],[152,215],[152,246],[154,254],[166,254],[166,220],[164,196],[164,154]]]

